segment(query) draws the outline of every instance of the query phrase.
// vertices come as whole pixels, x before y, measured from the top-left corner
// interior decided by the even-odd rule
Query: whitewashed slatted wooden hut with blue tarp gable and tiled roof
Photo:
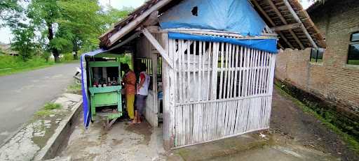
[[[102,49],[81,57],[82,69],[88,56],[114,49],[130,49],[134,66],[147,63],[144,116],[153,127],[163,116],[166,149],[269,128],[278,48],[325,47],[296,0],[149,0],[100,41]],[[87,128],[93,107],[86,79]]]

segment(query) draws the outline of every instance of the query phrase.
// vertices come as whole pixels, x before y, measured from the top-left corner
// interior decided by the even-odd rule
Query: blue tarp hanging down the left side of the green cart
[[[104,49],[97,49],[93,52],[88,52],[85,54],[82,54],[80,57],[80,63],[81,63],[81,89],[82,89],[82,98],[83,98],[83,124],[85,125],[85,128],[88,128],[88,125],[90,123],[91,114],[90,114],[90,102],[88,99],[88,87],[87,87],[87,68],[86,68],[86,56],[95,56],[96,54],[101,54],[107,52],[107,50]]]

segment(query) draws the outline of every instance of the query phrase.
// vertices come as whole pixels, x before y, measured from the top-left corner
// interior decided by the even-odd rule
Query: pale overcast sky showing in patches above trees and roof
[[[123,7],[132,7],[137,8],[144,3],[145,0],[99,0],[102,6],[107,6],[110,4],[114,8],[121,9]],[[303,8],[308,8],[310,3],[307,0],[303,0],[302,2]],[[1,43],[9,43],[11,36],[11,31],[8,28],[1,28],[0,29],[0,42]]]

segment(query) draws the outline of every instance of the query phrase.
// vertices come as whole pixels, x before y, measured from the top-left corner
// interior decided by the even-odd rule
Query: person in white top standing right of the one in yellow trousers
[[[146,98],[149,94],[149,81],[150,77],[146,72],[146,64],[141,63],[138,67],[140,71],[140,79],[137,84],[137,94],[136,94],[136,111],[135,111],[135,120],[133,123],[141,123],[141,116],[143,114],[144,107],[146,107]]]

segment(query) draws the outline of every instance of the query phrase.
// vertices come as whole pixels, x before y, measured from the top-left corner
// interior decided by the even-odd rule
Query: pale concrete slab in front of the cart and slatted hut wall
[[[85,130],[80,123],[61,157],[72,160],[338,160],[266,130],[229,139],[164,151],[162,128],[149,123],[117,122],[109,131],[101,123]]]

